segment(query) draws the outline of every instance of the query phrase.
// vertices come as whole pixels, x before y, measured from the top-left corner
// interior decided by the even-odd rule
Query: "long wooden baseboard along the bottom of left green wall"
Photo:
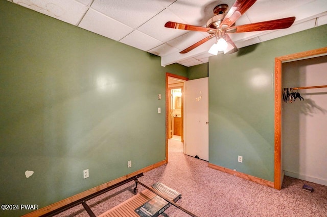
[[[114,184],[122,182],[122,181],[124,181],[124,180],[126,180],[126,179],[128,179],[130,177],[133,177],[133,176],[135,176],[137,174],[151,171],[154,168],[157,168],[157,167],[159,167],[161,165],[164,165],[164,164],[166,164],[166,160],[159,161],[159,162],[157,162],[155,164],[152,164],[150,166],[142,168],[141,170],[138,170],[138,171],[135,171],[133,173],[127,174],[126,176],[122,176],[122,177],[120,177],[118,179],[114,179],[114,180],[112,180],[110,182],[107,182],[107,183],[104,183],[104,184],[99,185],[97,187],[94,187],[94,188],[91,188],[89,190],[83,191],[80,194],[74,195],[74,196],[72,196],[70,198],[66,198],[66,199],[64,199],[62,201],[59,201],[57,203],[51,204],[49,206],[46,206],[46,207],[43,207],[41,209],[35,210],[35,211],[30,212],[28,214],[22,215],[22,217],[40,216],[40,215],[49,213],[49,212],[51,212],[51,211],[53,211],[55,209],[58,209],[58,208],[60,208],[62,206],[65,206],[65,205],[70,204],[70,203],[72,203],[74,201],[80,200],[80,199],[82,199],[82,198],[84,198],[86,196],[94,194],[94,193],[96,193],[96,192],[98,192],[98,191],[100,191],[102,189],[105,189],[105,188],[110,187],[110,186],[112,186]]]

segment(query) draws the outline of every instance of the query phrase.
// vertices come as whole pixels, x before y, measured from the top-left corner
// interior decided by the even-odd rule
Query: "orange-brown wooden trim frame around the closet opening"
[[[274,188],[282,189],[282,63],[327,54],[327,47],[275,58],[275,141],[274,141]]]

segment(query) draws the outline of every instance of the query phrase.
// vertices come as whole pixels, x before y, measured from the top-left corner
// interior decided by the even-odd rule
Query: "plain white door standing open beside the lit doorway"
[[[208,161],[208,78],[186,81],[185,106],[185,153]]]

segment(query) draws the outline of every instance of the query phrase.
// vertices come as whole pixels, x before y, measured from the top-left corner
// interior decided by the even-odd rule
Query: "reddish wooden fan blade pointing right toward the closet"
[[[293,17],[287,17],[282,19],[255,22],[246,25],[231,27],[228,28],[226,31],[227,33],[240,33],[240,32],[286,29],[292,26],[294,20],[295,17],[293,16]]]

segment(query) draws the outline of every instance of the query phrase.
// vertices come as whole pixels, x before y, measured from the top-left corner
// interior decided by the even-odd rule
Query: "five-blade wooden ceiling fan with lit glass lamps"
[[[197,46],[203,44],[213,37],[216,37],[217,43],[214,43],[209,50],[209,53],[217,55],[219,51],[224,52],[224,54],[231,54],[238,51],[237,46],[228,36],[229,33],[286,29],[292,26],[295,20],[294,16],[235,26],[236,20],[240,18],[240,16],[242,16],[242,14],[244,14],[255,2],[256,0],[236,0],[227,13],[226,11],[228,10],[228,5],[220,4],[216,6],[214,8],[215,16],[207,21],[206,27],[193,26],[172,21],[167,22],[165,27],[180,30],[201,31],[210,34],[209,36],[189,46],[185,50],[179,52],[180,54],[188,53]]]

